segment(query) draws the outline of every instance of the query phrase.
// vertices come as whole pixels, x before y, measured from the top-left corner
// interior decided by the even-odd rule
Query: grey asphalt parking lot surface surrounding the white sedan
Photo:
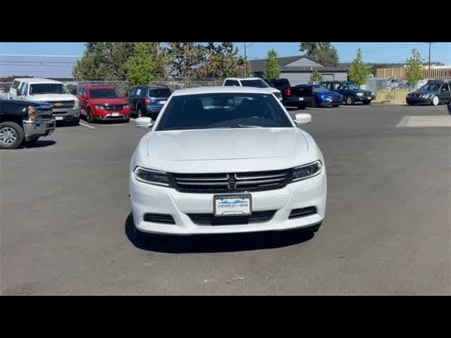
[[[128,165],[144,132],[132,121],[58,126],[0,151],[2,294],[451,294],[451,129],[428,127],[451,118],[445,106],[299,112],[328,170],[314,237],[138,241]]]

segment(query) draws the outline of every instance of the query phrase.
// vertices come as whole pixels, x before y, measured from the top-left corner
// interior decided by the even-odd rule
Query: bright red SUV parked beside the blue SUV
[[[130,120],[130,106],[113,86],[83,84],[77,87],[80,115],[87,122]]]

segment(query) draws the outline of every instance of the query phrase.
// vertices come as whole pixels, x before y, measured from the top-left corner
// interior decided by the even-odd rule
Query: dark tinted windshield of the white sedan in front
[[[156,130],[240,127],[293,125],[272,94],[210,93],[173,96]]]

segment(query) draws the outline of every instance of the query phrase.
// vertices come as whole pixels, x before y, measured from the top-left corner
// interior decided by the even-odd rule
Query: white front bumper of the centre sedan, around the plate
[[[225,234],[308,228],[323,221],[326,212],[326,170],[308,180],[288,184],[283,189],[252,192],[252,212],[276,211],[264,223],[240,225],[199,225],[188,214],[213,211],[214,194],[191,194],[167,187],[158,187],[135,180],[130,175],[130,199],[137,230],[161,234]],[[297,208],[316,207],[316,213],[288,219]],[[167,214],[175,224],[152,223],[145,213]]]

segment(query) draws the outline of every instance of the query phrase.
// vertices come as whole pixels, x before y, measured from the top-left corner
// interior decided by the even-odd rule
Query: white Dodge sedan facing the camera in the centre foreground
[[[265,89],[173,92],[130,161],[137,235],[316,231],[326,167],[314,139]]]

